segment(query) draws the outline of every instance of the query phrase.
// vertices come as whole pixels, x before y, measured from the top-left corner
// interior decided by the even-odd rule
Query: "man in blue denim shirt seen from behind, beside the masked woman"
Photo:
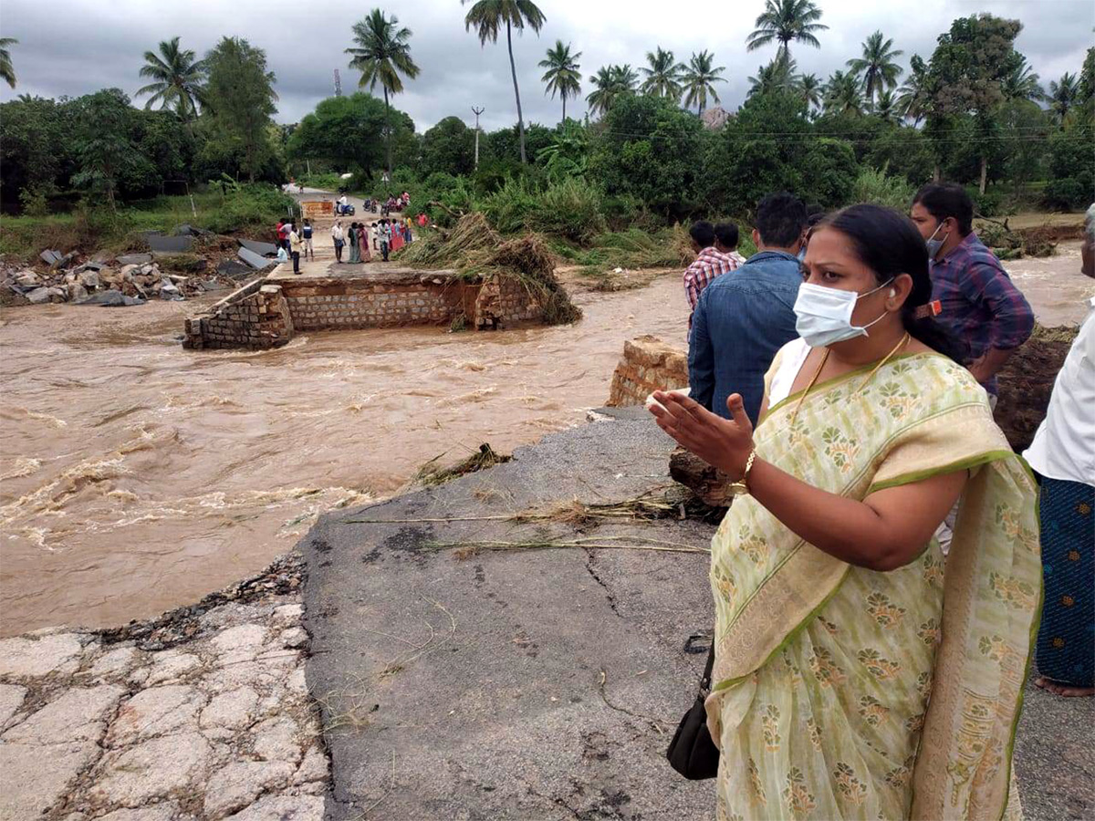
[[[770,194],[757,206],[757,253],[700,294],[689,336],[691,396],[729,417],[726,398],[740,393],[756,425],[772,358],[798,334],[795,299],[803,284],[798,250],[806,206],[792,194]]]

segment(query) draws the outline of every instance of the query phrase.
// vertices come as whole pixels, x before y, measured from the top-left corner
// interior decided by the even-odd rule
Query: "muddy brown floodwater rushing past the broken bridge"
[[[1008,268],[1046,324],[1079,321],[1095,292],[1079,245]],[[625,339],[685,343],[676,276],[575,300],[574,327],[333,332],[262,352],[183,350],[200,301],[5,310],[0,633],[194,601],[434,456],[581,423]]]

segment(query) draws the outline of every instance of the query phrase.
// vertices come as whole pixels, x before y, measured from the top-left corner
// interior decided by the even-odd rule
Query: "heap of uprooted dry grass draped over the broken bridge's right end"
[[[555,255],[535,234],[505,241],[480,211],[461,217],[452,230],[439,230],[407,245],[399,262],[434,268],[456,268],[461,277],[485,281],[516,279],[540,305],[543,322],[565,325],[581,319],[555,278]]]

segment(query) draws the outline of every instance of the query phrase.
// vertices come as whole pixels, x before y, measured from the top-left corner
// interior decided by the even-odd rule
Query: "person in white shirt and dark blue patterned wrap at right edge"
[[[1085,245],[1095,245],[1095,208]],[[1086,248],[1083,273],[1095,277]],[[1046,419],[1023,454],[1041,477],[1045,586],[1035,684],[1095,695],[1095,298],[1053,383]]]

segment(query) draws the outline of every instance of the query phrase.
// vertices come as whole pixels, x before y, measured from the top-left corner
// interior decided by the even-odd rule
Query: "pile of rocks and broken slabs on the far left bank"
[[[45,256],[43,257],[45,259]],[[83,264],[66,267],[73,256],[57,256],[46,270],[34,268],[0,268],[0,288],[9,303],[28,302],[43,304],[71,302],[104,307],[140,305],[150,299],[184,300],[207,291],[235,287],[230,276],[171,274],[160,269],[148,254],[120,256],[108,264],[107,259],[93,258]],[[199,261],[204,268],[204,261]]]

